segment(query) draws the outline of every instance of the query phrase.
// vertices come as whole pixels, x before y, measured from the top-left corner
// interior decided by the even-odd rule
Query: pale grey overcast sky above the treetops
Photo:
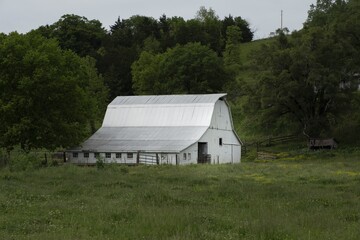
[[[250,23],[255,38],[268,37],[283,26],[290,31],[302,28],[311,4],[316,0],[0,0],[0,32],[26,33],[52,24],[64,14],[99,20],[108,29],[118,17],[145,15],[158,19],[181,16],[191,19],[200,6],[212,8],[222,19],[240,16]]]

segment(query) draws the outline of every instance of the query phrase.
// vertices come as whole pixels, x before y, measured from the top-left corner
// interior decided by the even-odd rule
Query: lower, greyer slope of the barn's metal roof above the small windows
[[[90,152],[180,152],[205,133],[207,127],[102,127],[81,150]]]

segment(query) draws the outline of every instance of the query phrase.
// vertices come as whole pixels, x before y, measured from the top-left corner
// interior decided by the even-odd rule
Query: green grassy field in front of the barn
[[[360,239],[360,150],[0,170],[0,239]]]

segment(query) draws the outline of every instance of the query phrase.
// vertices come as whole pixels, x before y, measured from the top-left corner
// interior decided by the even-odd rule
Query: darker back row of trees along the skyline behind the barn
[[[219,19],[213,9],[205,7],[189,20],[168,18],[165,14],[159,19],[141,15],[118,18],[109,32],[98,20],[67,14],[54,24],[41,26],[34,32],[55,38],[62,49],[95,58],[98,72],[104,76],[110,99],[113,99],[134,94],[131,66],[141,52],[164,53],[177,44],[199,42],[222,56],[229,26],[241,29],[243,42],[253,39],[247,21],[232,16]]]

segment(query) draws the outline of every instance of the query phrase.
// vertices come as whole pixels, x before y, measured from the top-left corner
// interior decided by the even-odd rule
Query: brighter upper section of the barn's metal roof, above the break
[[[214,105],[226,94],[117,97],[103,127],[210,126]]]

